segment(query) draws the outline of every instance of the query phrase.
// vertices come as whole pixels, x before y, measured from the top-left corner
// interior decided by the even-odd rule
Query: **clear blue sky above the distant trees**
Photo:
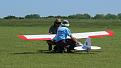
[[[0,17],[121,13],[121,0],[0,0]]]

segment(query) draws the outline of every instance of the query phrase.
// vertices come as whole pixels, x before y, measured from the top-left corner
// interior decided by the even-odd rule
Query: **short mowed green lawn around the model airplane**
[[[45,41],[24,41],[21,34],[46,34],[48,26],[0,27],[0,68],[120,68],[121,28],[112,28],[113,37],[94,38],[102,50],[75,53],[49,53]],[[71,27],[72,32],[100,31],[106,28]],[[82,39],[83,40],[83,39]]]

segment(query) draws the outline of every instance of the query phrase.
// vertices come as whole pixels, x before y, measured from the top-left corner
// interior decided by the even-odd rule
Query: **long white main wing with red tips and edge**
[[[72,36],[76,39],[81,38],[98,38],[103,36],[113,36],[112,31],[97,31],[97,32],[84,32],[84,33],[72,33]],[[55,34],[41,34],[41,35],[19,35],[19,38],[23,40],[52,40]],[[70,38],[70,37],[68,37]]]

